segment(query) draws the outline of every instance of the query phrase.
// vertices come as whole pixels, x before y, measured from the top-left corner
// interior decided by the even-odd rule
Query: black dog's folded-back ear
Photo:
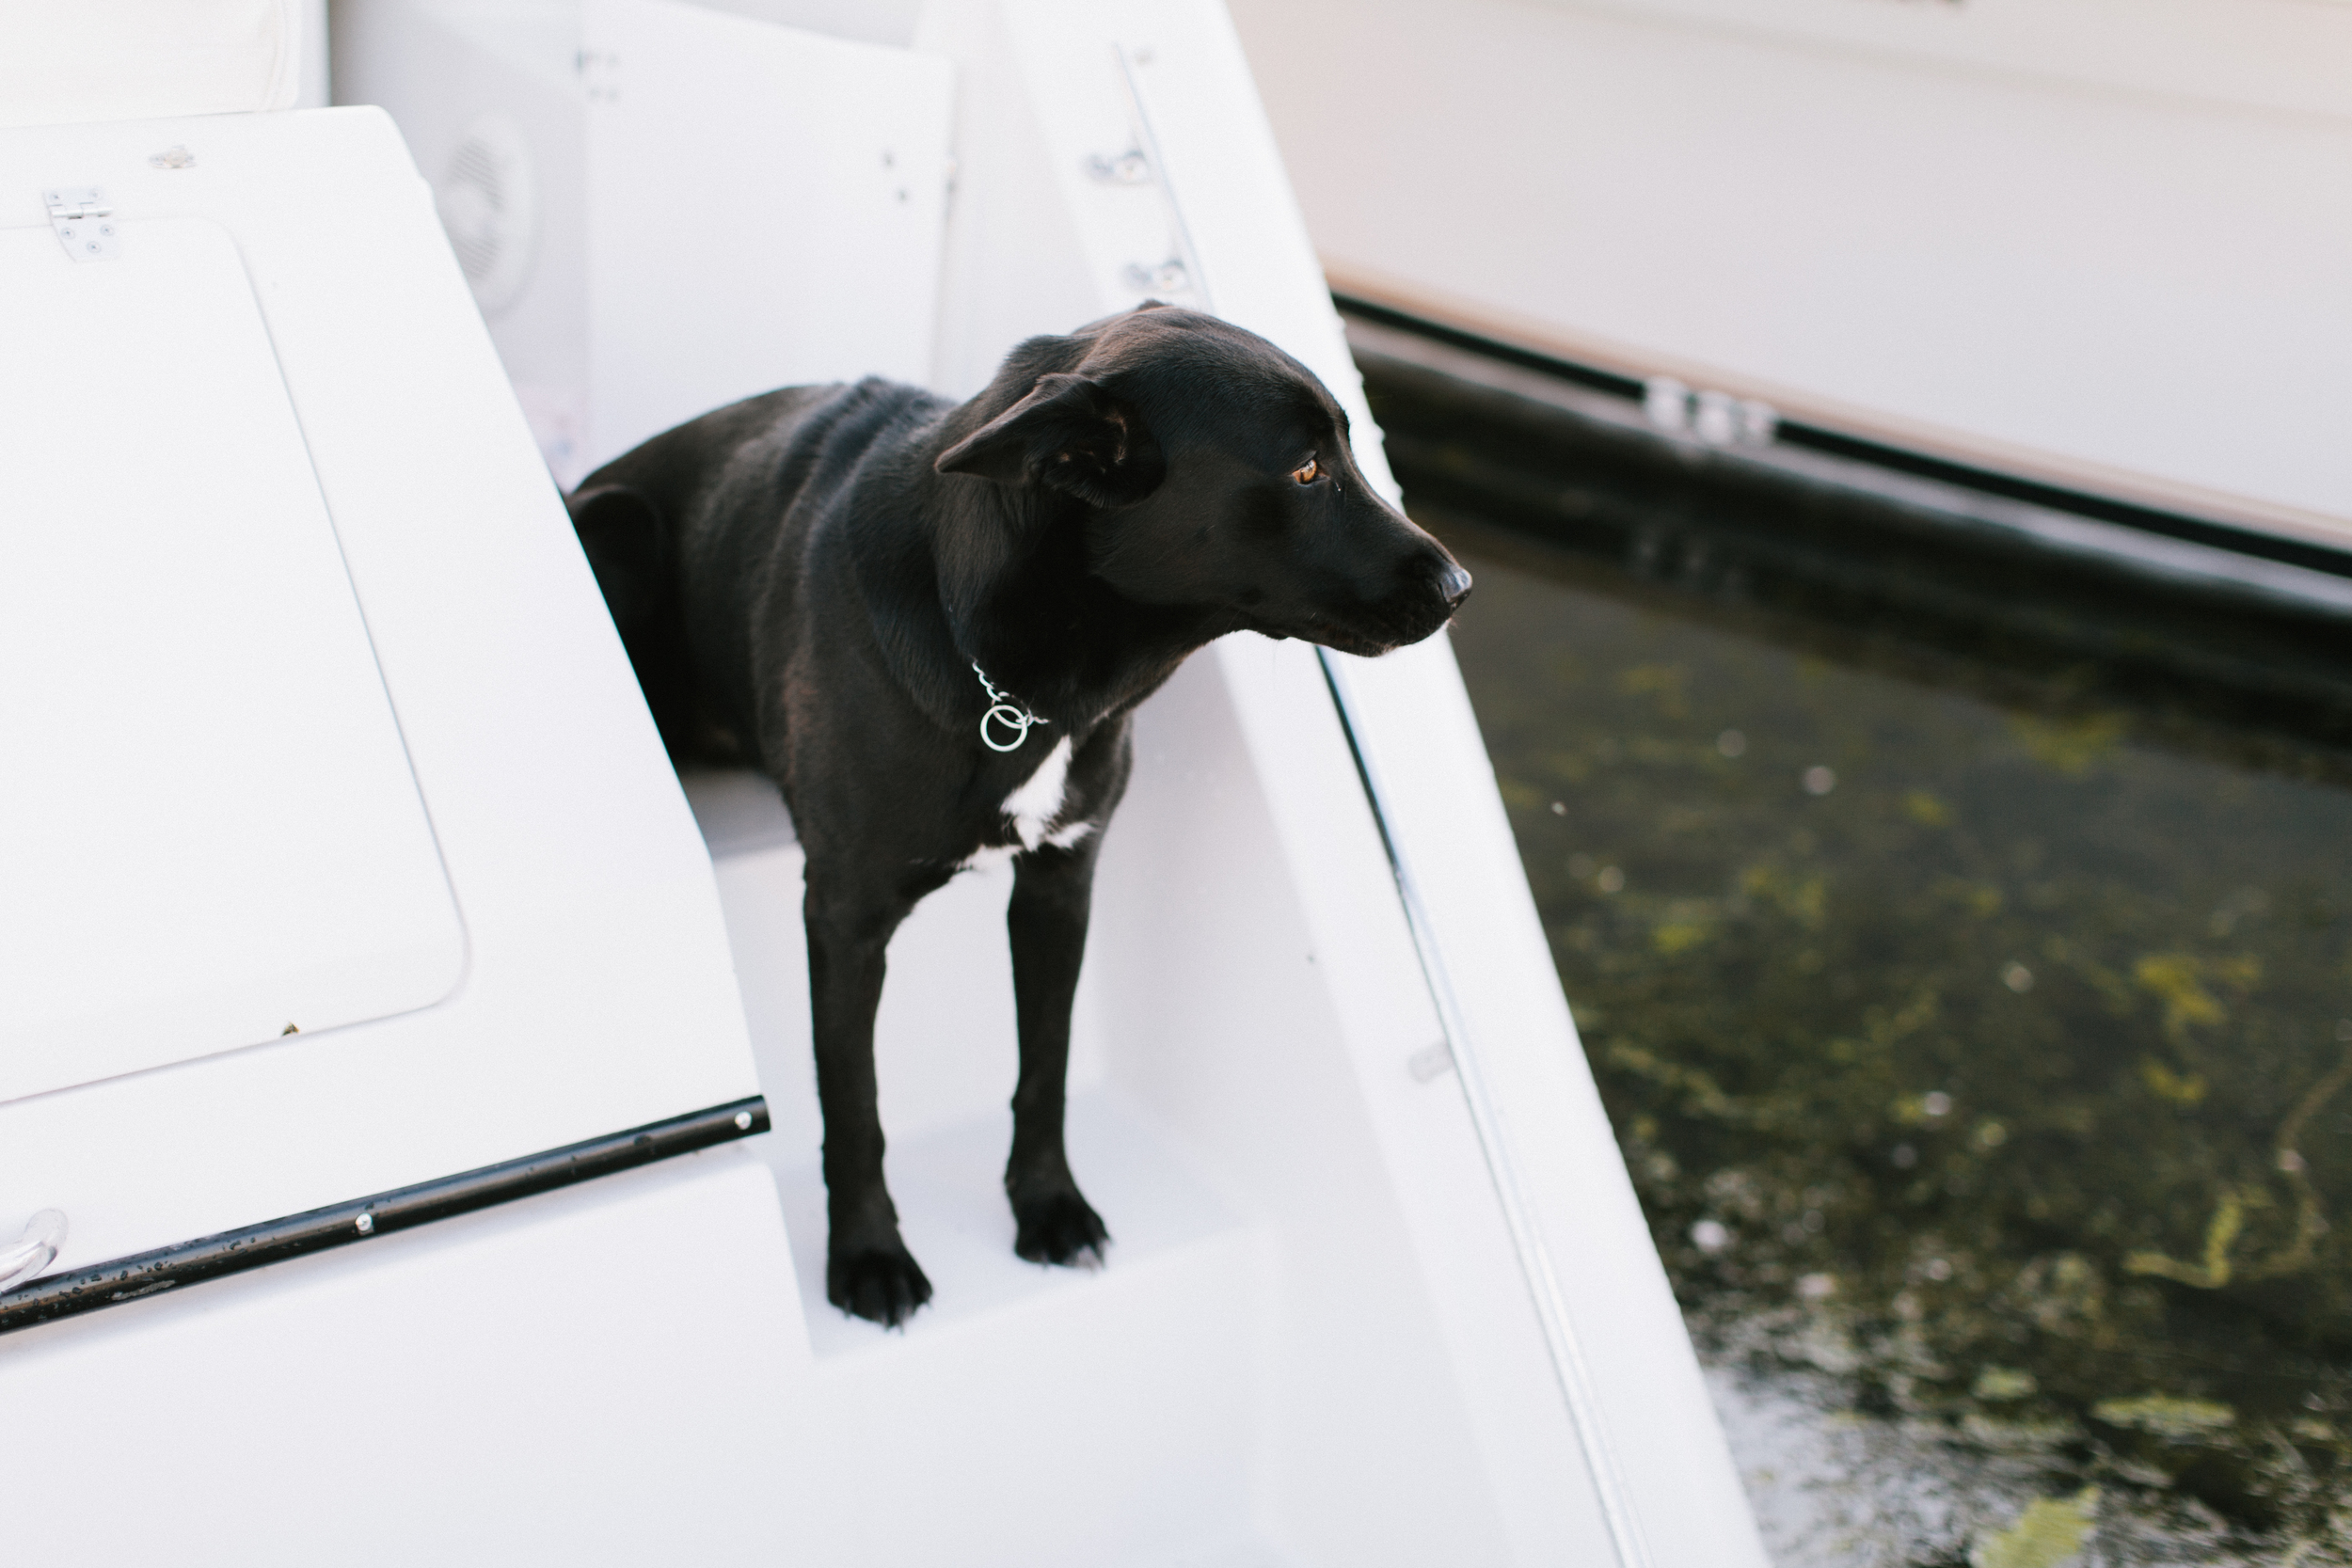
[[[1094,505],[1160,489],[1167,458],[1143,416],[1087,376],[1040,376],[1028,397],[938,454],[938,473],[1047,484]]]

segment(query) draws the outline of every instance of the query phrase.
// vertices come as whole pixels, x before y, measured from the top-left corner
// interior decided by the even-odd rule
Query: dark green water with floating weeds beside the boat
[[[2343,759],[1428,522],[1783,1568],[2352,1561]]]

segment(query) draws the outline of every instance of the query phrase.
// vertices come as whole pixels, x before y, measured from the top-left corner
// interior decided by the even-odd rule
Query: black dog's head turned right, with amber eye
[[[1073,496],[1089,569],[1129,599],[1385,654],[1470,592],[1357,470],[1338,400],[1254,331],[1143,306],[1033,339],[990,393],[1016,400],[938,470]]]

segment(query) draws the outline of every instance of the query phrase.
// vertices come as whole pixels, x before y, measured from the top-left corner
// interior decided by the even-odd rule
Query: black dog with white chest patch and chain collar
[[[1371,491],[1303,364],[1169,306],[1030,339],[962,407],[887,381],[750,397],[569,505],[670,755],[767,771],[807,851],[826,1295],[880,1324],[931,1298],[882,1185],[875,1004],[898,922],[990,851],[1014,860],[1014,1251],[1101,1258],[1063,1070],[1129,712],[1242,628],[1418,642],[1470,574]]]

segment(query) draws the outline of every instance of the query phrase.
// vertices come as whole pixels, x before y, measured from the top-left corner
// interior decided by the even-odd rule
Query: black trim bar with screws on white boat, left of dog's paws
[[[480,1171],[442,1175],[440,1180],[395,1187],[374,1197],[313,1208],[263,1220],[245,1229],[228,1229],[219,1237],[198,1237],[179,1246],[160,1246],[153,1253],[134,1253],[111,1262],[94,1262],[66,1274],[47,1274],[33,1284],[0,1293],[0,1333],[52,1324],[61,1316],[99,1312],[122,1302],[162,1295],[181,1286],[226,1279],[287,1258],[322,1253],[353,1241],[374,1241],[395,1229],[414,1229],[433,1220],[513,1204],[539,1192],[572,1187],[600,1175],[633,1171],[659,1159],[691,1154],[736,1138],[764,1133],[767,1100],[734,1100],[710,1110],[649,1121],[626,1133],[604,1133],[586,1143],[569,1143],[543,1154],[524,1154]],[[365,1220],[365,1225],[362,1225]]]

